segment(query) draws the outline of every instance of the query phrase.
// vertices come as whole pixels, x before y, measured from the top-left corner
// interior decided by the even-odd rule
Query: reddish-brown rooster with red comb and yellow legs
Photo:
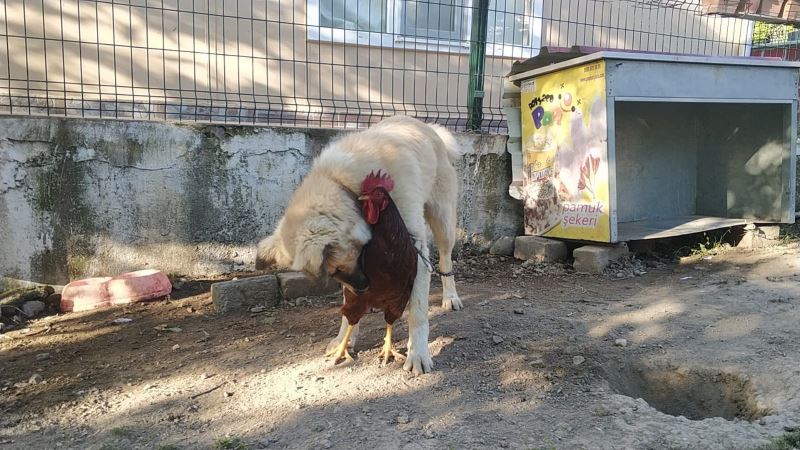
[[[326,354],[335,357],[334,363],[343,358],[352,359],[347,352],[350,335],[370,307],[382,309],[386,320],[386,337],[379,355],[381,365],[386,366],[392,357],[398,361],[405,358],[392,346],[392,325],[403,315],[411,297],[417,276],[417,250],[389,196],[393,188],[392,178],[381,174],[380,170],[377,174],[371,172],[361,184],[358,200],[362,202],[364,218],[372,231],[372,239],[362,248],[359,262],[368,287],[363,290],[343,288],[342,315],[349,326],[341,343]]]

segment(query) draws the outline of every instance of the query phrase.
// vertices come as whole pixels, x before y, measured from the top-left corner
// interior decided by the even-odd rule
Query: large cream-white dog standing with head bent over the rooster
[[[359,254],[371,234],[356,197],[364,178],[380,169],[394,179],[392,199],[420,253],[428,258],[427,222],[439,250],[439,269],[450,273],[458,194],[455,157],[450,132],[402,116],[332,142],[314,161],[275,231],[258,244],[256,267],[291,267],[311,277],[327,274],[350,289],[363,281]],[[417,267],[408,303],[408,357],[403,367],[419,375],[430,372],[433,361],[428,351],[431,272],[423,261]],[[442,276],[442,284],[442,306],[461,309],[453,276]],[[346,328],[343,317],[331,346],[341,342]],[[357,328],[349,346],[355,344],[356,335]]]

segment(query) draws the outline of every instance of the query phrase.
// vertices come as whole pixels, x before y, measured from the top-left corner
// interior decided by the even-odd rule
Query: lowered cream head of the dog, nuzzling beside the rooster
[[[313,179],[300,185],[275,231],[259,242],[256,269],[329,276],[360,293],[369,285],[360,256],[370,238],[353,194],[330,180]]]

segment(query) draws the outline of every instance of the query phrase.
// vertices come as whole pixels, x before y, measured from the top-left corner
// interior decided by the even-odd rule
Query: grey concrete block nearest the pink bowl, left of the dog
[[[281,301],[278,277],[263,275],[214,283],[211,300],[221,313],[247,311],[258,305],[277,306]]]

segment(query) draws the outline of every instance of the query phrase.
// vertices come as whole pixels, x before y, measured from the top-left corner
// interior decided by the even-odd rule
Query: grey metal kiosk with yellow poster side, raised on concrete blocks
[[[798,67],[601,51],[512,71],[525,234],[616,243],[794,223]]]

